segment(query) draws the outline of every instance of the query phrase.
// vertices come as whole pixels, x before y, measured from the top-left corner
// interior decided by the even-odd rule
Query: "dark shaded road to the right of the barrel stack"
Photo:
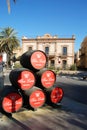
[[[87,80],[57,76],[56,84],[63,88],[65,96],[87,104]]]

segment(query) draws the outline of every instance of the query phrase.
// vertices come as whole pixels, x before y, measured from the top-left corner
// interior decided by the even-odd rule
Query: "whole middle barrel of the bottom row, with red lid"
[[[45,103],[44,92],[36,87],[24,91],[24,106],[36,109],[42,107]]]

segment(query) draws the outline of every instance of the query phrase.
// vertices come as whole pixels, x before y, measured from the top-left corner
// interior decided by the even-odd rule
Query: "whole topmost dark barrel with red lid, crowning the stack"
[[[20,63],[24,68],[38,71],[46,66],[47,57],[41,50],[32,50],[23,53],[20,57]]]

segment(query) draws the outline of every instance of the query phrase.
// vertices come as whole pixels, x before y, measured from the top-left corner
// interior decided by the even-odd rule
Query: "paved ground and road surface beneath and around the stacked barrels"
[[[8,75],[4,84],[10,84]],[[61,105],[22,109],[12,117],[0,113],[0,130],[87,130],[87,81],[58,76],[56,85],[64,90]]]

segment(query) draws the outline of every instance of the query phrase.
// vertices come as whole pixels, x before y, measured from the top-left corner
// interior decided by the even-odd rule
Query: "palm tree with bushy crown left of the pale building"
[[[8,64],[13,56],[13,50],[20,45],[19,39],[16,35],[17,33],[10,27],[2,29],[0,33],[0,52],[6,52]]]

